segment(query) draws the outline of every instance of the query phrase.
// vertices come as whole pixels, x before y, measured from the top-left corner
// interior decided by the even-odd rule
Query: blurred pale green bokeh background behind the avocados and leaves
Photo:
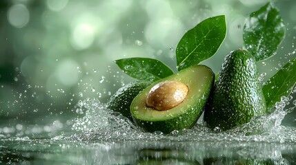
[[[119,58],[157,58],[176,71],[175,47],[186,30],[225,14],[226,40],[202,62],[217,73],[224,56],[242,46],[246,17],[266,2],[1,0],[0,126],[70,123],[79,115],[79,100],[106,102],[134,80],[115,65]],[[264,80],[296,57],[296,1],[275,5],[286,23],[286,39],[275,56],[258,63]],[[294,113],[286,123],[295,125]]]

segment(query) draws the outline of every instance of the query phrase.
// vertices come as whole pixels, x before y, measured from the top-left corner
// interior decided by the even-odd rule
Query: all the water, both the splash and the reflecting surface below
[[[296,107],[286,106],[292,105],[291,102],[295,99],[282,97],[273,113],[253,118],[251,122],[228,131],[210,131],[199,120],[193,129],[164,135],[143,132],[128,118],[107,109],[98,99],[88,98],[75,106],[80,117],[67,123],[72,125],[73,131],[68,135],[57,133],[65,129],[65,124],[59,121],[44,127],[26,129],[25,125],[17,124],[14,128],[0,128],[3,144],[0,163],[2,157],[7,157],[10,163],[42,159],[51,164],[137,164],[144,159],[153,162],[169,158],[194,164],[294,164],[296,128],[281,124],[284,116]],[[1,139],[1,132],[6,135],[4,139]],[[13,135],[17,132],[19,135]],[[46,138],[58,136],[50,140],[26,136],[42,132]]]

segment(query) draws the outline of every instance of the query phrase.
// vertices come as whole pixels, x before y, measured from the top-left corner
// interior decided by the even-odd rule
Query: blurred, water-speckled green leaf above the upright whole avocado
[[[244,46],[256,61],[273,56],[285,36],[285,25],[273,3],[250,14],[244,25]]]

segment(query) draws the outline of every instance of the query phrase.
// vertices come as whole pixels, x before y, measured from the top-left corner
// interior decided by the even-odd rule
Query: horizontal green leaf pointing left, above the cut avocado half
[[[137,80],[155,81],[174,74],[161,61],[152,58],[123,58],[115,61],[124,73]]]

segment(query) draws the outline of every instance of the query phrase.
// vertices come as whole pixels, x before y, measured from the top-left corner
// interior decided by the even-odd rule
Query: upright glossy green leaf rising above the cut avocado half
[[[176,49],[178,70],[197,65],[213,56],[226,36],[225,16],[201,21],[184,34]]]

